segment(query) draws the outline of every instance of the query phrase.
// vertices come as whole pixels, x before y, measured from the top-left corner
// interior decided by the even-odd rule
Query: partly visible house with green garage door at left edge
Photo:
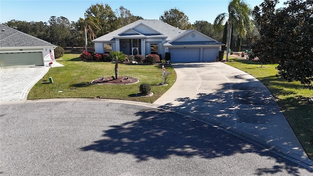
[[[57,46],[0,24],[0,67],[48,66]]]

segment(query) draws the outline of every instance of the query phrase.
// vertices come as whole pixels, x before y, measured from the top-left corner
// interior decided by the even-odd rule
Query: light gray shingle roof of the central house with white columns
[[[160,35],[144,34],[145,37],[148,37],[148,36],[164,37],[164,38],[167,37],[166,38],[167,41],[174,39],[175,37],[177,37],[178,35],[180,35],[181,33],[183,33],[185,31],[185,30],[181,30],[177,27],[174,27],[170,24],[167,24],[165,22],[161,22],[159,20],[138,20],[138,21],[130,23],[124,27],[121,27],[115,31],[112,31],[112,32],[110,32],[104,36],[101,36],[101,37],[93,40],[93,42],[114,41],[114,37],[121,36],[118,34],[126,31],[127,29],[134,28],[135,26],[137,26],[140,23],[142,23],[146,26],[149,26],[152,29],[154,29],[160,33]],[[125,36],[125,35],[123,35],[123,36]],[[134,37],[134,35],[131,35],[131,34],[129,36]]]

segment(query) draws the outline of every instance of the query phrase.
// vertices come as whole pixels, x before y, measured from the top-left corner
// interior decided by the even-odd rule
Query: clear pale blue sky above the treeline
[[[253,9],[263,0],[245,0]],[[283,1],[279,4],[282,6]],[[134,16],[159,20],[164,11],[177,8],[189,18],[213,24],[218,14],[227,12],[229,0],[0,0],[0,23],[11,20],[48,22],[51,16],[65,17],[70,22],[84,18],[86,10],[96,3],[109,4],[113,11],[121,5]]]

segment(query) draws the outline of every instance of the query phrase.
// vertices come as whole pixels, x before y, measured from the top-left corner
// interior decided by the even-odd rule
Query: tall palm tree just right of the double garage
[[[250,20],[252,10],[244,0],[231,0],[228,4],[228,13],[219,14],[214,20],[216,28],[222,28],[224,21],[228,18],[227,25],[227,54],[226,61],[228,62],[228,50],[230,46],[231,29],[234,27],[240,37],[246,37],[253,29],[253,23]]]

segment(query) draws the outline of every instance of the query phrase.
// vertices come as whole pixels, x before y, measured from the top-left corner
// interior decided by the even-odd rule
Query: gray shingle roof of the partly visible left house
[[[42,39],[0,24],[0,47],[56,47]]]

